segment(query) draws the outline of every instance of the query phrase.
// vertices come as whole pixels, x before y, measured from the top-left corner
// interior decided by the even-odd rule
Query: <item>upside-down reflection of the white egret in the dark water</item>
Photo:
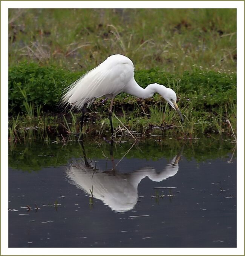
[[[116,167],[108,171],[101,169],[98,162],[88,163],[84,150],[84,159],[73,161],[67,167],[66,175],[70,183],[89,195],[92,192],[93,198],[100,199],[115,212],[126,212],[137,203],[138,185],[142,179],[149,177],[152,181],[160,182],[178,172],[182,151],[183,147],[160,172],[151,167],[142,167],[130,173],[121,173],[116,171]]]

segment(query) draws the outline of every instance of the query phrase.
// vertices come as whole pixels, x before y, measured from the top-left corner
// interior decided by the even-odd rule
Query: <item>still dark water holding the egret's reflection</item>
[[[12,146],[9,247],[236,247],[235,144]]]

